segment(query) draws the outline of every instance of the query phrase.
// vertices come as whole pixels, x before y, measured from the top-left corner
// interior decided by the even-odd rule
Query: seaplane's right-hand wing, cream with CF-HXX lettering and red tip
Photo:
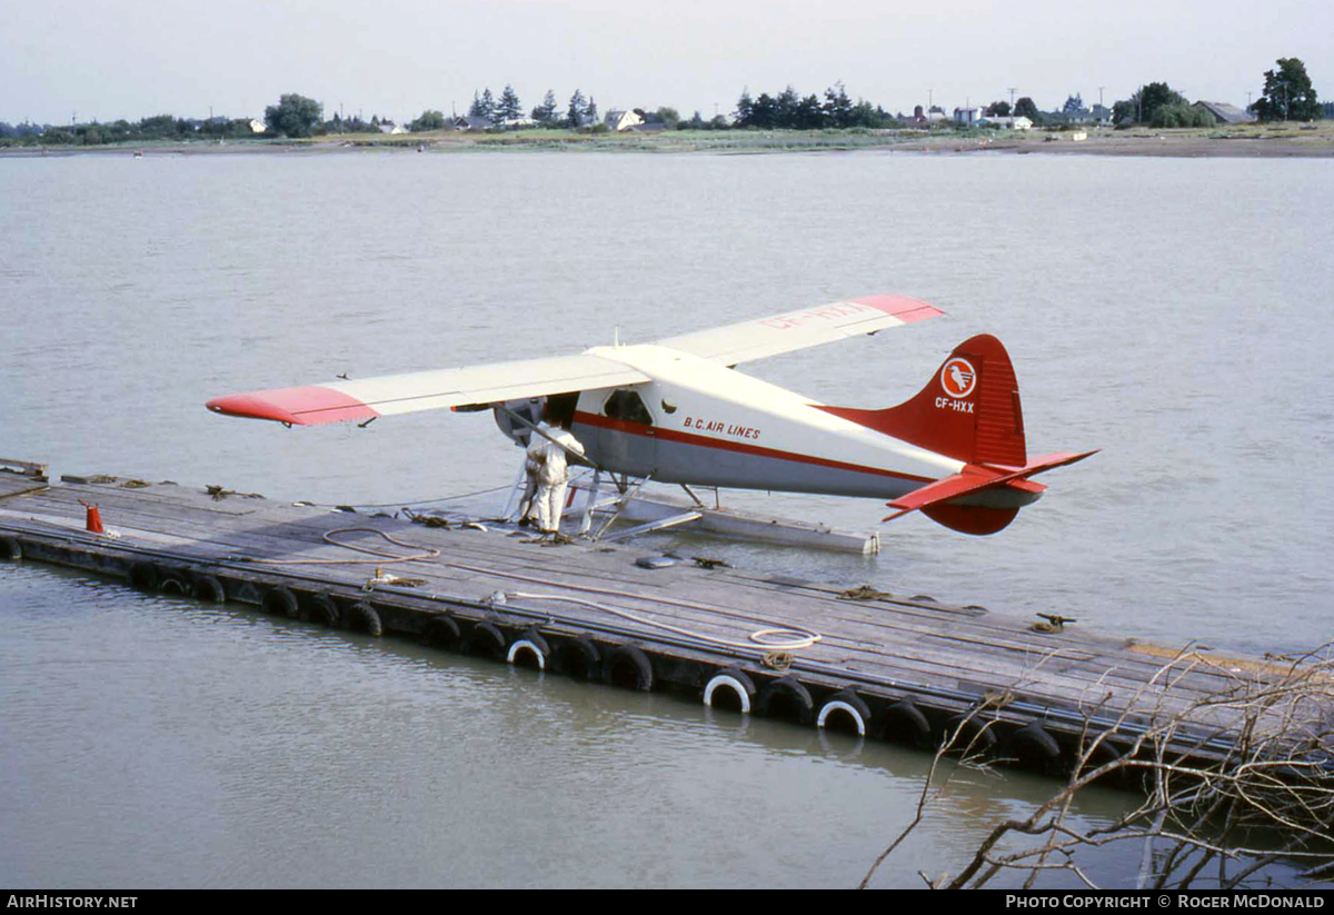
[[[680,349],[724,365],[736,365],[862,333],[875,333],[943,313],[939,308],[908,296],[862,296],[728,324],[711,331],[684,333],[659,340],[658,345]]]

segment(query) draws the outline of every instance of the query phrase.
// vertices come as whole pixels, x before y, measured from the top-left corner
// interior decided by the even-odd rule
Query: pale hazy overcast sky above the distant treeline
[[[735,108],[791,84],[911,112],[932,97],[1079,92],[1106,104],[1163,80],[1245,105],[1278,57],[1334,97],[1330,0],[0,0],[0,120],[157,113],[263,117],[299,92],[325,116],[467,109],[511,83],[598,107]]]

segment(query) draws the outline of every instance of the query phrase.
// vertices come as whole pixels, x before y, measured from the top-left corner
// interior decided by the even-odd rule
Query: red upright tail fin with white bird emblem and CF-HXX
[[[956,345],[926,387],[898,407],[823,409],[968,464],[1029,463],[1019,381],[1010,353],[988,333]]]

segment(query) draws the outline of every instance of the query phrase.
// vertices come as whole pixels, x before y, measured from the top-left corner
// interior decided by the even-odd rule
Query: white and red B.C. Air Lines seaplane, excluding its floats
[[[996,337],[964,340],[915,396],[879,409],[818,403],[736,369],[940,315],[908,296],[870,295],[656,343],[232,393],[207,407],[287,427],[490,409],[519,443],[539,420],[568,428],[580,463],[620,475],[622,491],[654,480],[884,499],[894,512],[883,522],[922,512],[962,534],[995,534],[1046,490],[1031,478],[1095,453],[1029,458],[1019,384]]]

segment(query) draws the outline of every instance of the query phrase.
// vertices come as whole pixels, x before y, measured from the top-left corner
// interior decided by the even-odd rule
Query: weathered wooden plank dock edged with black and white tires
[[[962,722],[976,746],[1050,772],[1069,768],[1082,734],[1114,730],[1129,744],[1170,715],[1187,716],[1174,731],[1177,752],[1223,754],[1239,712],[1202,700],[1235,688],[1238,676],[1293,670],[1179,655],[1086,623],[1035,631],[1034,619],[908,594],[840,594],[688,559],[640,566],[646,551],[627,546],[542,546],[512,528],[427,527],[216,487],[48,482],[39,466],[8,464],[0,560],[672,690],[870,739],[932,747]],[[104,534],[85,530],[87,506],[97,507]],[[1274,727],[1305,726],[1281,718]]]

